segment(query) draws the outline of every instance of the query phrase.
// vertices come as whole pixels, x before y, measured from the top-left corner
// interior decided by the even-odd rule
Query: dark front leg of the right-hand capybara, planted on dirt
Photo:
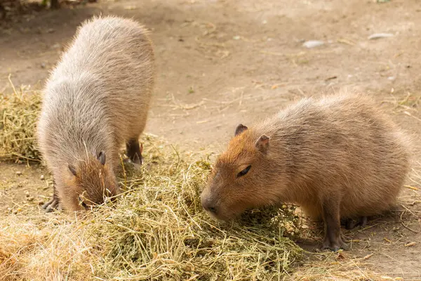
[[[323,204],[324,239],[321,249],[347,249],[340,233],[340,208],[338,202],[325,202]]]

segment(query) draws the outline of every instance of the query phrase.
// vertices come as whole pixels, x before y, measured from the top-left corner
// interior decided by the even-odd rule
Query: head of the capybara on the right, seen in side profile
[[[278,201],[280,189],[267,186],[270,170],[274,169],[269,146],[268,136],[243,124],[236,127],[234,138],[216,160],[201,193],[201,204],[210,216],[226,221],[246,209]]]

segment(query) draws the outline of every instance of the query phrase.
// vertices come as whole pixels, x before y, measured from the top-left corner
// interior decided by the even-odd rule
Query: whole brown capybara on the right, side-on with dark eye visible
[[[305,98],[248,129],[240,124],[216,160],[201,204],[229,220],[291,202],[325,225],[322,249],[345,248],[340,218],[392,207],[409,170],[408,143],[363,94]]]

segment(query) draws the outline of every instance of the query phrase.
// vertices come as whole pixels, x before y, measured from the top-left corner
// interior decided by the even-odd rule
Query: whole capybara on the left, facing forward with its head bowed
[[[41,153],[55,181],[44,204],[89,209],[114,197],[119,150],[142,163],[138,138],[154,86],[154,51],[147,30],[133,20],[83,23],[51,72],[38,125]]]

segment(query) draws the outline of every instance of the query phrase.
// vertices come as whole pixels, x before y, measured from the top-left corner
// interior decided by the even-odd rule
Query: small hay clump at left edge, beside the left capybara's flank
[[[41,96],[27,87],[13,90],[0,93],[0,160],[39,161],[35,128]]]

